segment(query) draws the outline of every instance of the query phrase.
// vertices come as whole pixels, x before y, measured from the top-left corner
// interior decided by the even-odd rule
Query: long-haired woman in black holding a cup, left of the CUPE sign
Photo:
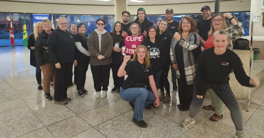
[[[112,88],[112,92],[117,91],[119,93],[120,87],[123,84],[124,77],[118,77],[117,72],[122,64],[123,55],[121,55],[122,45],[123,45],[123,27],[119,21],[114,25],[114,29],[110,32],[113,40],[112,47],[112,79],[114,80],[115,87]]]

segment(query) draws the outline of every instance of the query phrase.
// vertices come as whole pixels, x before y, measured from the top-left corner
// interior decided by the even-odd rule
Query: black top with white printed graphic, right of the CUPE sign
[[[162,69],[169,56],[167,55],[165,42],[158,39],[158,36],[156,35],[154,43],[149,40],[149,37],[147,37],[141,44],[147,47],[150,64],[152,65],[153,70],[158,71]]]

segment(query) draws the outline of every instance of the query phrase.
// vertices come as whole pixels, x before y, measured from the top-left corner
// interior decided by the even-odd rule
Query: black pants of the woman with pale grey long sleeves
[[[82,89],[86,81],[86,72],[88,70],[90,57],[88,59],[79,59],[77,60],[77,66],[75,67],[78,79],[75,80],[77,85],[77,90]]]

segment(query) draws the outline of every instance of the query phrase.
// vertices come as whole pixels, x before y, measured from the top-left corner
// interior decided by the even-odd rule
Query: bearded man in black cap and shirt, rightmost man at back
[[[202,7],[201,12],[202,12],[203,20],[200,20],[197,23],[197,29],[199,30],[202,46],[204,46],[204,43],[208,39],[208,31],[210,30],[211,27],[212,12],[211,12],[211,8],[208,5],[204,5]],[[204,47],[202,47],[202,49],[204,50]]]

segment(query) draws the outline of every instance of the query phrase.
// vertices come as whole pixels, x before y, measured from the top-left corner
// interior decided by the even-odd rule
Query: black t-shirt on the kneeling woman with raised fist
[[[145,64],[139,63],[138,60],[130,61],[125,66],[125,72],[128,74],[128,77],[130,77],[133,83],[143,83],[145,82],[145,79],[146,79],[146,73],[147,73],[147,77],[154,74],[152,68],[147,68],[147,70],[145,70],[145,66],[146,66]],[[147,81],[148,81],[148,78],[147,78]],[[121,87],[123,89],[128,89],[128,88],[133,87],[133,85],[132,83],[130,83],[130,80],[127,78],[125,79]]]

